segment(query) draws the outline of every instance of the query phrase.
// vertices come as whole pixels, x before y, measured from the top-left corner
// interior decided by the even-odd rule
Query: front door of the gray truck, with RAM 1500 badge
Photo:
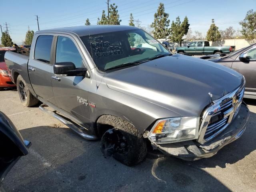
[[[52,71],[52,90],[58,108],[64,110],[78,123],[86,124],[90,122],[89,94],[95,91],[90,79],[90,68],[88,67],[82,52],[74,40],[69,35],[60,35],[54,42],[54,63],[72,62],[76,68],[87,68],[87,75],[83,76],[62,76],[54,74]],[[80,101],[84,101],[81,103]]]

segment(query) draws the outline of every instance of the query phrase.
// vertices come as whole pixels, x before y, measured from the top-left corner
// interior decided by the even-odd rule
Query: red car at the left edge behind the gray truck
[[[6,64],[4,62],[4,54],[6,51],[16,51],[15,48],[0,48],[0,90],[6,87],[15,87],[16,85],[10,79]]]

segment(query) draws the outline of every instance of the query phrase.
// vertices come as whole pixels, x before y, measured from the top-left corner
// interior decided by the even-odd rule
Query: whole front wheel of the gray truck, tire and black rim
[[[132,124],[110,115],[101,116],[97,124],[100,127],[112,126],[101,139],[101,151],[105,158],[113,156],[128,166],[136,165],[145,159],[146,142]]]

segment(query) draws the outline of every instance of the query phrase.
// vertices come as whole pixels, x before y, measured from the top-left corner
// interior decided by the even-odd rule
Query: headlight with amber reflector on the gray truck
[[[155,143],[173,143],[198,138],[199,117],[174,117],[158,120],[148,134]]]

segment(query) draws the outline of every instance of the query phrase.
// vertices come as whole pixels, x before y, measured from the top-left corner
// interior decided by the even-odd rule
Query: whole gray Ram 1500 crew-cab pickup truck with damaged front
[[[87,140],[101,138],[104,157],[128,166],[147,150],[213,156],[242,135],[249,116],[241,74],[172,55],[136,27],[38,31],[29,58],[6,52],[5,61],[24,106],[40,100],[40,109]]]

